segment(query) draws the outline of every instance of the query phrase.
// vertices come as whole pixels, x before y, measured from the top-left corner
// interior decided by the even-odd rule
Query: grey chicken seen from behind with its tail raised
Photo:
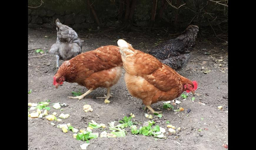
[[[49,53],[55,55],[56,67],[59,68],[59,59],[66,61],[81,54],[82,41],[76,31],[61,24],[59,19],[56,19],[56,26],[57,41],[51,46]]]

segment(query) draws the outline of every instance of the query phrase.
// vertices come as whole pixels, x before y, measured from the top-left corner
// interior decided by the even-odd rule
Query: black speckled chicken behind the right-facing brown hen
[[[149,54],[176,71],[182,70],[189,63],[197,32],[198,26],[190,25],[182,35],[157,45]]]

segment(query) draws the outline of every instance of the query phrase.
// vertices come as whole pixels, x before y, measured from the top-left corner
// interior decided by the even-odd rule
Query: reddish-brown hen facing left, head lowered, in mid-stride
[[[93,51],[87,51],[64,61],[54,75],[53,84],[58,88],[63,81],[78,83],[88,91],[81,96],[69,97],[83,99],[98,87],[107,88],[107,96],[97,97],[109,99],[110,87],[117,83],[122,74],[122,59],[117,46],[102,46]]]

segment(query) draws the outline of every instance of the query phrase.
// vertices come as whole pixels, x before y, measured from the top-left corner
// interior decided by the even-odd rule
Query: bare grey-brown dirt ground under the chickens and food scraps
[[[153,46],[161,41],[175,38],[177,35],[170,36],[164,32],[135,33],[135,32],[117,32],[109,33],[89,33],[78,32],[79,37],[84,40],[82,52],[90,51],[104,45],[117,45],[118,39],[125,39],[133,45],[134,48],[148,52]],[[163,36],[164,35],[164,36]],[[96,99],[107,93],[107,89],[98,88],[81,101],[69,99],[72,91],[84,93],[87,89],[76,83],[65,82],[58,89],[53,86],[53,76],[56,73],[56,60],[51,56],[49,50],[51,45],[56,42],[56,30],[46,29],[28,29],[28,49],[40,48],[46,54],[36,53],[35,50],[28,51],[28,102],[38,103],[40,101],[51,100],[50,104],[60,102],[66,103],[68,107],[53,109],[49,113],[70,114],[67,119],[62,121],[48,121],[41,118],[28,117],[28,149],[55,149],[55,150],[79,150],[85,141],[78,141],[73,138],[71,131],[63,133],[61,129],[56,128],[50,122],[57,124],[71,125],[76,129],[86,129],[91,120],[97,123],[106,124],[106,131],[111,121],[118,121],[130,113],[135,115],[133,122],[148,121],[145,118],[144,105],[142,100],[132,97],[126,89],[124,83],[124,70],[118,84],[111,88],[113,97],[109,100],[110,104],[105,104],[104,99]],[[33,56],[40,56],[34,57]],[[60,61],[60,65],[63,61]],[[202,68],[203,67],[203,68]],[[205,73],[203,73],[205,71]],[[207,74],[206,74],[207,73]],[[159,126],[166,129],[166,139],[155,139],[152,136],[133,135],[127,127],[125,137],[117,138],[97,138],[91,139],[87,149],[173,149],[173,150],[221,150],[223,144],[228,143],[228,44],[216,42],[215,40],[203,40],[197,36],[195,50],[187,68],[180,71],[179,74],[191,80],[198,82],[198,89],[195,95],[195,101],[191,101],[192,94],[183,100],[179,97],[177,100],[181,104],[174,108],[183,107],[184,111],[175,114],[172,110],[163,109],[162,102],[152,104],[152,108],[158,108],[163,111],[163,117],[153,120]],[[184,93],[185,94],[185,93]],[[200,104],[203,103],[203,104]],[[84,104],[90,104],[93,112],[85,113]],[[223,106],[222,110],[217,107]],[[189,113],[187,110],[191,109]],[[30,110],[32,112],[32,110]],[[98,114],[98,115],[97,115]],[[166,121],[169,120],[173,126],[181,127],[181,131],[176,134],[168,134]],[[138,124],[137,126],[142,126]],[[198,131],[198,130],[202,131]],[[102,132],[102,129],[93,129],[93,132]]]

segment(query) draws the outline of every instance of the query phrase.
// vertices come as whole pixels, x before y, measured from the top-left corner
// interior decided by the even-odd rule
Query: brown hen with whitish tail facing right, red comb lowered
[[[143,104],[152,113],[151,104],[158,101],[169,101],[179,97],[182,92],[190,91],[194,94],[197,82],[191,81],[174,71],[171,67],[162,64],[155,57],[135,50],[124,40],[117,42],[122,54],[125,69],[124,80],[129,93],[142,99]]]

